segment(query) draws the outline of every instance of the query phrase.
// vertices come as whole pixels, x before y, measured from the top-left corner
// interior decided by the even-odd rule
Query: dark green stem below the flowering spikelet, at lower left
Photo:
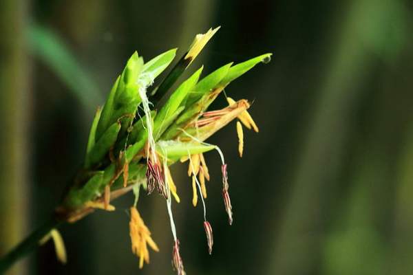
[[[43,225],[34,230],[34,232],[17,245],[17,247],[0,259],[0,274],[6,272],[21,257],[39,247],[39,241],[53,228],[58,228],[62,223],[63,221],[58,221],[55,217],[51,217]]]

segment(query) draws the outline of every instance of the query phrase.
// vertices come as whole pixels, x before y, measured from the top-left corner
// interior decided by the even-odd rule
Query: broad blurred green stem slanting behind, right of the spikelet
[[[359,99],[357,85],[370,69],[356,31],[358,21],[354,14],[362,14],[358,1],[352,1],[343,13],[346,16],[340,22],[341,30],[338,36],[332,36],[338,41],[333,50],[337,54],[321,84],[267,274],[305,274],[316,265],[321,250],[319,236],[313,234],[322,225],[323,199],[319,195],[326,184],[335,182],[332,179],[340,167],[354,102]]]

